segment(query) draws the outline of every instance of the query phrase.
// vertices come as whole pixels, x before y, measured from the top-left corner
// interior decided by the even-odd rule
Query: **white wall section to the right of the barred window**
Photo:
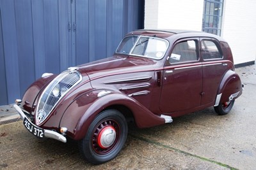
[[[255,60],[255,9],[255,0],[225,0],[221,36],[228,41],[235,64]]]

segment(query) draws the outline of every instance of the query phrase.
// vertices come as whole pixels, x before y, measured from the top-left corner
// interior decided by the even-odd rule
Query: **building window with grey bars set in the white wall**
[[[202,31],[221,36],[224,0],[204,0]]]

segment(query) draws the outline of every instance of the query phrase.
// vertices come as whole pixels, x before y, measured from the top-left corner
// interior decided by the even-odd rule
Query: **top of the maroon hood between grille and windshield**
[[[108,76],[121,73],[132,73],[157,69],[159,64],[156,60],[143,57],[113,56],[95,62],[77,66],[80,73],[86,73],[90,79],[100,76]]]

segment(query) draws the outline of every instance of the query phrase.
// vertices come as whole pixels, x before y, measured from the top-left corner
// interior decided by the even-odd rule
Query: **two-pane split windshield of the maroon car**
[[[162,59],[168,48],[168,41],[149,36],[127,36],[118,46],[116,53]]]

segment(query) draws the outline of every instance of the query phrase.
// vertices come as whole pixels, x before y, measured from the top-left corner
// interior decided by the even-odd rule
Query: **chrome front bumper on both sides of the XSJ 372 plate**
[[[22,120],[24,120],[26,115],[23,113],[23,111],[20,109],[20,107],[17,104],[14,104],[13,107],[20,114],[20,118],[22,118]],[[65,136],[63,136],[62,134],[59,134],[58,132],[50,131],[50,130],[47,130],[47,129],[44,129],[44,136],[45,136],[45,138],[56,139],[56,140],[61,141],[63,143],[67,142],[67,138],[65,138]]]

